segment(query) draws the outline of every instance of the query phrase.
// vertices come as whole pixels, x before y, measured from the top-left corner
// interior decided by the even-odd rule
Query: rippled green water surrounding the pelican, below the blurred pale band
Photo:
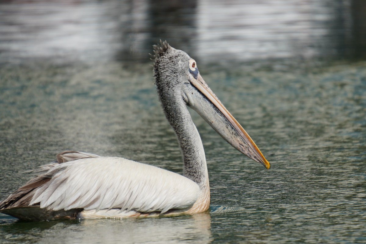
[[[19,222],[0,243],[365,243],[366,63],[203,78],[271,163],[266,170],[198,115],[209,213],[153,219]],[[19,172],[63,150],[122,156],[181,172],[178,143],[149,65],[0,68],[0,199]]]

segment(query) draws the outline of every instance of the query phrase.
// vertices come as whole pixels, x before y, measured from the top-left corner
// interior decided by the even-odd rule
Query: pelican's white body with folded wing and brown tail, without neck
[[[37,214],[85,217],[90,211],[108,217],[166,213],[189,209],[199,195],[198,185],[186,177],[125,158],[65,152],[34,171],[40,174],[1,202],[1,212],[27,220],[40,220]]]

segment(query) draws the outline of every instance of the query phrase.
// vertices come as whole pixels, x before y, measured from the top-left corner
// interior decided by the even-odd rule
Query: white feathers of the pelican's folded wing
[[[199,194],[198,185],[184,176],[124,158],[74,159],[48,174],[52,179],[35,190],[30,205],[55,211],[120,208],[165,213],[192,206]]]

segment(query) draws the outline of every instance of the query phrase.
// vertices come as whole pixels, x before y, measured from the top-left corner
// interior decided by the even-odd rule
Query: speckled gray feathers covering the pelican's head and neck
[[[154,46],[154,76],[165,116],[178,137],[183,153],[184,176],[204,187],[208,180],[205,152],[197,128],[182,98],[182,84],[187,82],[188,59],[183,51],[166,42]]]

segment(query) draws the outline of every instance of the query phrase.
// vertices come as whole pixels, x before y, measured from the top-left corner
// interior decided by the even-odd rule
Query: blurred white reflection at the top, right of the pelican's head
[[[239,61],[346,55],[347,1],[199,1],[199,57]],[[213,18],[214,16],[214,18]]]

